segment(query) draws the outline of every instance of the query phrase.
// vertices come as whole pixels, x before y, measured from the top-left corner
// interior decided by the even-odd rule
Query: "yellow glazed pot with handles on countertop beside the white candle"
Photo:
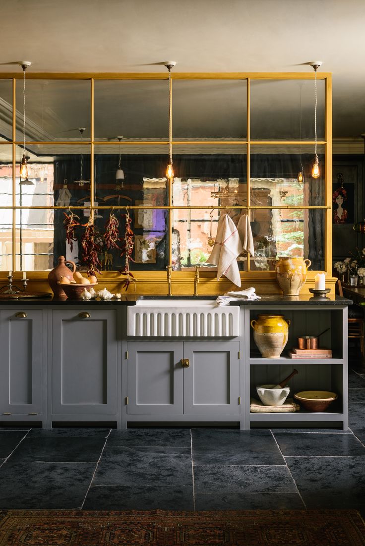
[[[285,296],[297,296],[307,278],[311,261],[302,256],[282,256],[275,263],[276,280]]]

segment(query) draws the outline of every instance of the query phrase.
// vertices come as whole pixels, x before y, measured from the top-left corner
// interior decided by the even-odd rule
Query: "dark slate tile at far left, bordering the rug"
[[[0,468],[0,508],[79,508],[95,464],[30,462]]]

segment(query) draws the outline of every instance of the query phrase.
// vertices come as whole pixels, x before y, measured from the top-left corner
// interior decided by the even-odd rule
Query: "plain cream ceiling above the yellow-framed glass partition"
[[[21,22],[24,22],[23,26]],[[364,0],[11,0],[0,72],[333,73],[333,134],[365,132]],[[23,29],[23,37],[21,37]]]

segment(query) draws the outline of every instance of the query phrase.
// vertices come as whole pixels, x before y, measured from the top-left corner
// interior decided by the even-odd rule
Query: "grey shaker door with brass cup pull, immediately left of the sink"
[[[116,311],[53,311],[52,413],[116,413]]]

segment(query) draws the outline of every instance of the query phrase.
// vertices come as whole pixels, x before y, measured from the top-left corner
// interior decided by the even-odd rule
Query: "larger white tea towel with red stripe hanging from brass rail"
[[[213,250],[208,258],[210,264],[217,265],[217,281],[225,275],[229,281],[241,286],[237,256],[242,252],[237,227],[228,214],[222,216],[217,225],[217,235]]]

